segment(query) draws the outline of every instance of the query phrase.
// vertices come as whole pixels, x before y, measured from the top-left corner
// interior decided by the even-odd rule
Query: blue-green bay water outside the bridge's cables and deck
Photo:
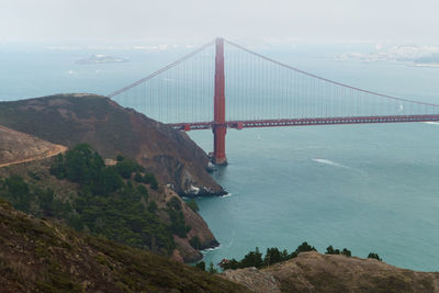
[[[398,63],[334,61],[351,47],[266,49],[295,67],[402,98],[439,103],[439,68]],[[369,49],[368,47],[361,49]],[[0,47],[0,100],[59,92],[106,94],[167,65],[182,52]],[[130,63],[75,65],[91,54]],[[190,132],[206,151],[212,132]],[[378,252],[409,269],[439,270],[439,124],[381,124],[228,129],[229,165],[213,176],[229,192],[198,199],[221,243],[205,261],[250,249]]]

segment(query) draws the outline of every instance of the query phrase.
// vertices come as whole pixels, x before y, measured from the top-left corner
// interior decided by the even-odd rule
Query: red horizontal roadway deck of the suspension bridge
[[[403,122],[430,122],[439,121],[439,115],[387,115],[387,116],[350,116],[350,117],[314,117],[314,119],[280,119],[280,120],[249,120],[226,121],[227,128],[255,128],[255,127],[280,127],[280,126],[308,126],[308,125],[333,125],[333,124],[370,124],[370,123],[403,123]],[[215,122],[194,123],[170,123],[176,129],[200,131],[212,129]]]

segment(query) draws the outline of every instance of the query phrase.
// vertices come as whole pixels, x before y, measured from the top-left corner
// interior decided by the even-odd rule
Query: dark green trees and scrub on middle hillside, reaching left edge
[[[176,247],[172,235],[182,238],[191,229],[184,222],[181,203],[172,199],[165,212],[169,223],[158,216],[149,200],[148,187],[156,190],[151,173],[136,162],[119,157],[105,166],[102,157],[87,144],[58,155],[50,173],[78,185],[78,192],[61,201],[49,188],[42,189],[19,176],[0,180],[0,196],[35,216],[55,217],[76,230],[90,232],[137,248],[170,255]],[[134,178],[134,179],[133,179]]]

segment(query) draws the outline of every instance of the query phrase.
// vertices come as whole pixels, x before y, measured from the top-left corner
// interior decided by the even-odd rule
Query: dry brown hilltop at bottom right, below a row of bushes
[[[416,272],[375,259],[318,252],[303,252],[261,270],[227,270],[223,278],[255,292],[439,292],[438,272]]]

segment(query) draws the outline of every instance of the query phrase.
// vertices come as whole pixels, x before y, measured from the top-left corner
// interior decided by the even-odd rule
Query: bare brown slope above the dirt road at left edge
[[[0,126],[0,167],[48,158],[67,148]]]

